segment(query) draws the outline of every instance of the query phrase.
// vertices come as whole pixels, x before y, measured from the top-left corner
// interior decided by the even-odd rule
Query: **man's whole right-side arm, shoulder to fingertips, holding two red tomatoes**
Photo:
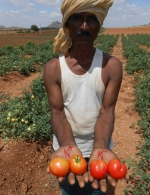
[[[109,144],[114,128],[115,105],[122,81],[122,64],[117,58],[112,57],[109,59],[106,66],[108,82],[105,89],[100,113],[95,124],[94,145],[89,163],[98,158],[102,158],[107,163],[112,158],[117,158],[117,156],[109,149]],[[89,173],[89,179],[92,182],[93,188],[97,189],[100,185],[101,191],[106,192],[106,178],[101,179],[98,182],[97,180],[94,180],[94,178]],[[107,180],[112,186],[116,186],[116,181],[109,175],[107,176]]]

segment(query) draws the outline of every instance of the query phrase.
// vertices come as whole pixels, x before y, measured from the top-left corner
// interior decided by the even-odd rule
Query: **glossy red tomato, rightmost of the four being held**
[[[127,167],[119,159],[111,159],[108,163],[108,173],[114,179],[122,179],[127,173]]]

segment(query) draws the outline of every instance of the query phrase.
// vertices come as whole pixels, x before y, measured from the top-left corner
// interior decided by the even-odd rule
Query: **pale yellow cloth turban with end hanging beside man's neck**
[[[72,14],[81,12],[92,13],[97,17],[100,26],[102,26],[112,4],[113,0],[64,0],[61,5],[61,13],[63,15],[62,28],[55,37],[54,53],[66,54],[68,52],[71,39],[65,23]]]

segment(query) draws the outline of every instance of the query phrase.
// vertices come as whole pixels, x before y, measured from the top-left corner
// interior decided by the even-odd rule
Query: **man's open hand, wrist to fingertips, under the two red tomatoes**
[[[100,186],[100,190],[103,193],[105,193],[107,191],[107,182],[106,182],[106,180],[113,187],[116,187],[117,180],[110,177],[110,175],[107,175],[106,178],[101,179],[101,180],[94,179],[92,177],[92,175],[90,174],[90,162],[92,162],[93,160],[97,160],[97,159],[103,159],[106,163],[108,163],[113,158],[117,158],[117,156],[112,151],[107,150],[107,149],[95,148],[95,149],[93,149],[93,152],[91,153],[91,156],[90,156],[90,159],[89,159],[89,165],[88,165],[89,180],[92,182],[92,187],[94,189],[98,189],[98,187]],[[126,175],[125,179],[128,180],[128,175]]]

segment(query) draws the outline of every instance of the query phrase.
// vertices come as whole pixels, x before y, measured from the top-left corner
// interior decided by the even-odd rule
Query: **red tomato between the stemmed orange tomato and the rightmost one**
[[[92,161],[90,173],[95,179],[103,179],[107,174],[107,163],[102,159]]]

